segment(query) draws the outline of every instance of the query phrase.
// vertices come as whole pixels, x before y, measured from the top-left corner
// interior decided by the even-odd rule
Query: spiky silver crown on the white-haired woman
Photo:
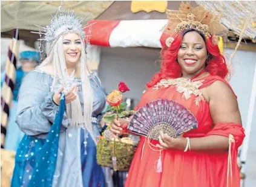
[[[74,12],[64,14],[63,12],[57,13],[51,19],[51,22],[46,27],[41,27],[44,32],[44,40],[47,43],[53,42],[57,37],[59,37],[62,33],[73,33],[76,32],[79,34],[82,40],[84,40],[85,32],[83,30],[83,26],[78,17],[74,15]],[[61,33],[58,33],[59,28],[64,28]]]

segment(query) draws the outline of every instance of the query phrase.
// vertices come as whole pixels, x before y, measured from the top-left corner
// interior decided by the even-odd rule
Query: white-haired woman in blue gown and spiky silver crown
[[[73,13],[64,11],[42,29],[50,50],[21,86],[16,122],[25,136],[11,185],[107,186],[96,162],[95,144],[105,92],[99,77],[87,68],[84,38],[88,33]],[[56,114],[63,94],[66,110],[61,119]],[[61,120],[59,132],[54,128],[57,120]]]

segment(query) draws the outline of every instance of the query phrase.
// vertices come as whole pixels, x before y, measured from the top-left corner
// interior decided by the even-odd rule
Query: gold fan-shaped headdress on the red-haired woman
[[[212,43],[217,45],[218,39],[215,33],[224,30],[220,24],[220,15],[212,14],[209,10],[205,10],[202,6],[191,7],[188,3],[182,2],[179,10],[166,10],[168,24],[163,28],[163,32],[172,36],[173,34],[182,33],[189,28],[199,30],[206,37],[214,37]],[[166,45],[171,46],[173,38],[166,39]]]

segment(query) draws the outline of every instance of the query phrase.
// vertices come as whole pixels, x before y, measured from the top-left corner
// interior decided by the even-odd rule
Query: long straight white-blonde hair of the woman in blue
[[[39,69],[42,66],[50,64],[53,65],[54,78],[52,88],[56,84],[56,78],[60,80],[67,80],[69,78],[68,72],[66,71],[67,66],[65,63],[64,47],[62,41],[63,34],[65,33],[62,33],[56,42],[50,44],[50,50],[48,51],[47,58],[37,68]],[[79,33],[76,34],[79,36]],[[77,97],[76,100],[67,104],[67,116],[71,119],[71,126],[81,125],[81,127],[86,128],[93,137],[93,126],[91,124],[91,115],[93,113],[93,89],[91,88],[90,84],[90,71],[87,66],[87,58],[85,52],[86,46],[83,40],[81,45],[82,49],[79,62],[80,66],[78,67],[80,67],[80,78],[82,81],[82,100],[84,100],[84,109],[82,111],[79,97]]]

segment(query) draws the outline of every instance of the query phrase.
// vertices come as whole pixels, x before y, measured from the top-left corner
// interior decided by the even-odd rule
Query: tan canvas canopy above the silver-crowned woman
[[[65,10],[74,9],[76,16],[89,16],[82,22],[87,24],[91,19],[107,10],[114,1],[63,1]],[[1,1],[1,32],[13,28],[38,31],[36,25],[46,26],[50,23],[51,14],[56,14],[60,1]]]

